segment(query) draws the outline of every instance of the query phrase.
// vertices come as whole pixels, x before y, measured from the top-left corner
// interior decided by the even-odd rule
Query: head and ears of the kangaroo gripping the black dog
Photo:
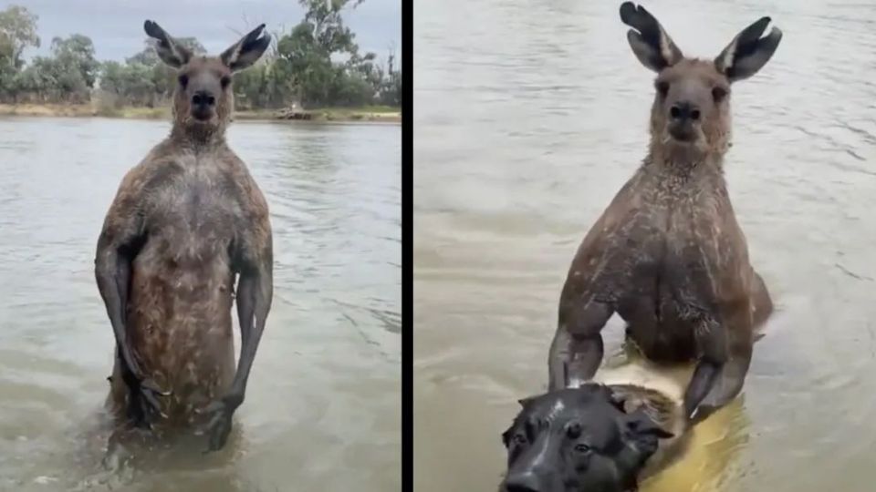
[[[620,5],[620,20],[633,54],[657,73],[651,113],[652,152],[667,159],[723,155],[730,145],[730,86],[751,77],[776,51],[782,32],[761,17],[743,29],[714,60],[683,56],[682,50],[641,5]]]

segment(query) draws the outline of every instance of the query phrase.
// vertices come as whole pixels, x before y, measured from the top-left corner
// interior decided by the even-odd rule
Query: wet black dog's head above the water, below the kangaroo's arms
[[[680,401],[634,384],[589,383],[520,404],[502,435],[508,462],[500,492],[636,490],[646,466],[677,450],[686,425]]]

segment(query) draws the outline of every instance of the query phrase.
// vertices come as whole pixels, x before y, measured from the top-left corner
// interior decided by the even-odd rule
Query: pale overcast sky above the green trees
[[[47,55],[55,36],[79,33],[94,41],[98,59],[123,61],[143,48],[146,19],[172,36],[198,38],[217,55],[236,41],[234,30],[245,33],[264,22],[269,32],[288,31],[304,17],[296,0],[0,0],[0,10],[8,5],[24,5],[39,16],[42,43],[26,51],[27,58]],[[383,59],[394,44],[401,58],[401,0],[365,0],[345,21],[361,51]]]

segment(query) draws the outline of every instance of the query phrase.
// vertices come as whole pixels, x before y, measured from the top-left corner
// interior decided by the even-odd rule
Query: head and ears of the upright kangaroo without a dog
[[[205,138],[222,134],[234,110],[232,74],[250,67],[265,53],[270,36],[256,27],[220,56],[193,56],[161,26],[148,20],[146,34],[158,40],[162,61],[177,71],[173,91],[173,125],[184,134]]]

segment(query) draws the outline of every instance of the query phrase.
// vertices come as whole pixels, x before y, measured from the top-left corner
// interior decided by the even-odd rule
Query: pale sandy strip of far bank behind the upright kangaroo
[[[170,119],[170,108],[99,108],[85,104],[0,104],[0,116],[21,117],[74,117],[74,118],[130,118]],[[277,109],[237,110],[235,119],[247,120],[306,120],[306,121],[375,121],[401,122],[399,108],[316,108],[294,112]]]

